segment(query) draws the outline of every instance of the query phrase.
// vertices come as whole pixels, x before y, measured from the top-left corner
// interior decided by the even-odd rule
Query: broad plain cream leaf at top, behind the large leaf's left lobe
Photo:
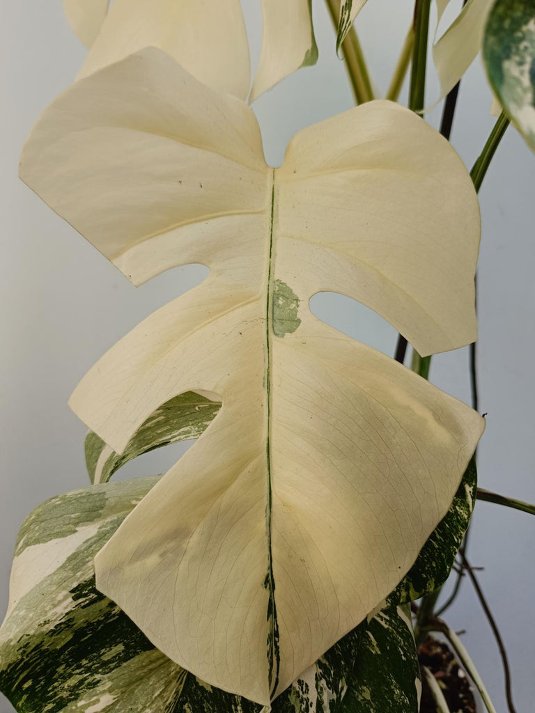
[[[155,46],[194,77],[240,98],[250,60],[240,0],[115,0],[78,78]]]

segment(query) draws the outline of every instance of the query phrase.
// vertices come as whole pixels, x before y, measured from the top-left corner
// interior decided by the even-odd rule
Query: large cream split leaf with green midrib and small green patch
[[[267,168],[245,103],[154,49],[58,98],[21,175],[136,284],[210,267],[71,405],[121,453],[177,394],[223,401],[101,550],[97,584],[175,662],[267,704],[407,573],[483,429],[308,301],[349,294],[420,354],[471,342],[469,176],[388,102],[305,129]]]

